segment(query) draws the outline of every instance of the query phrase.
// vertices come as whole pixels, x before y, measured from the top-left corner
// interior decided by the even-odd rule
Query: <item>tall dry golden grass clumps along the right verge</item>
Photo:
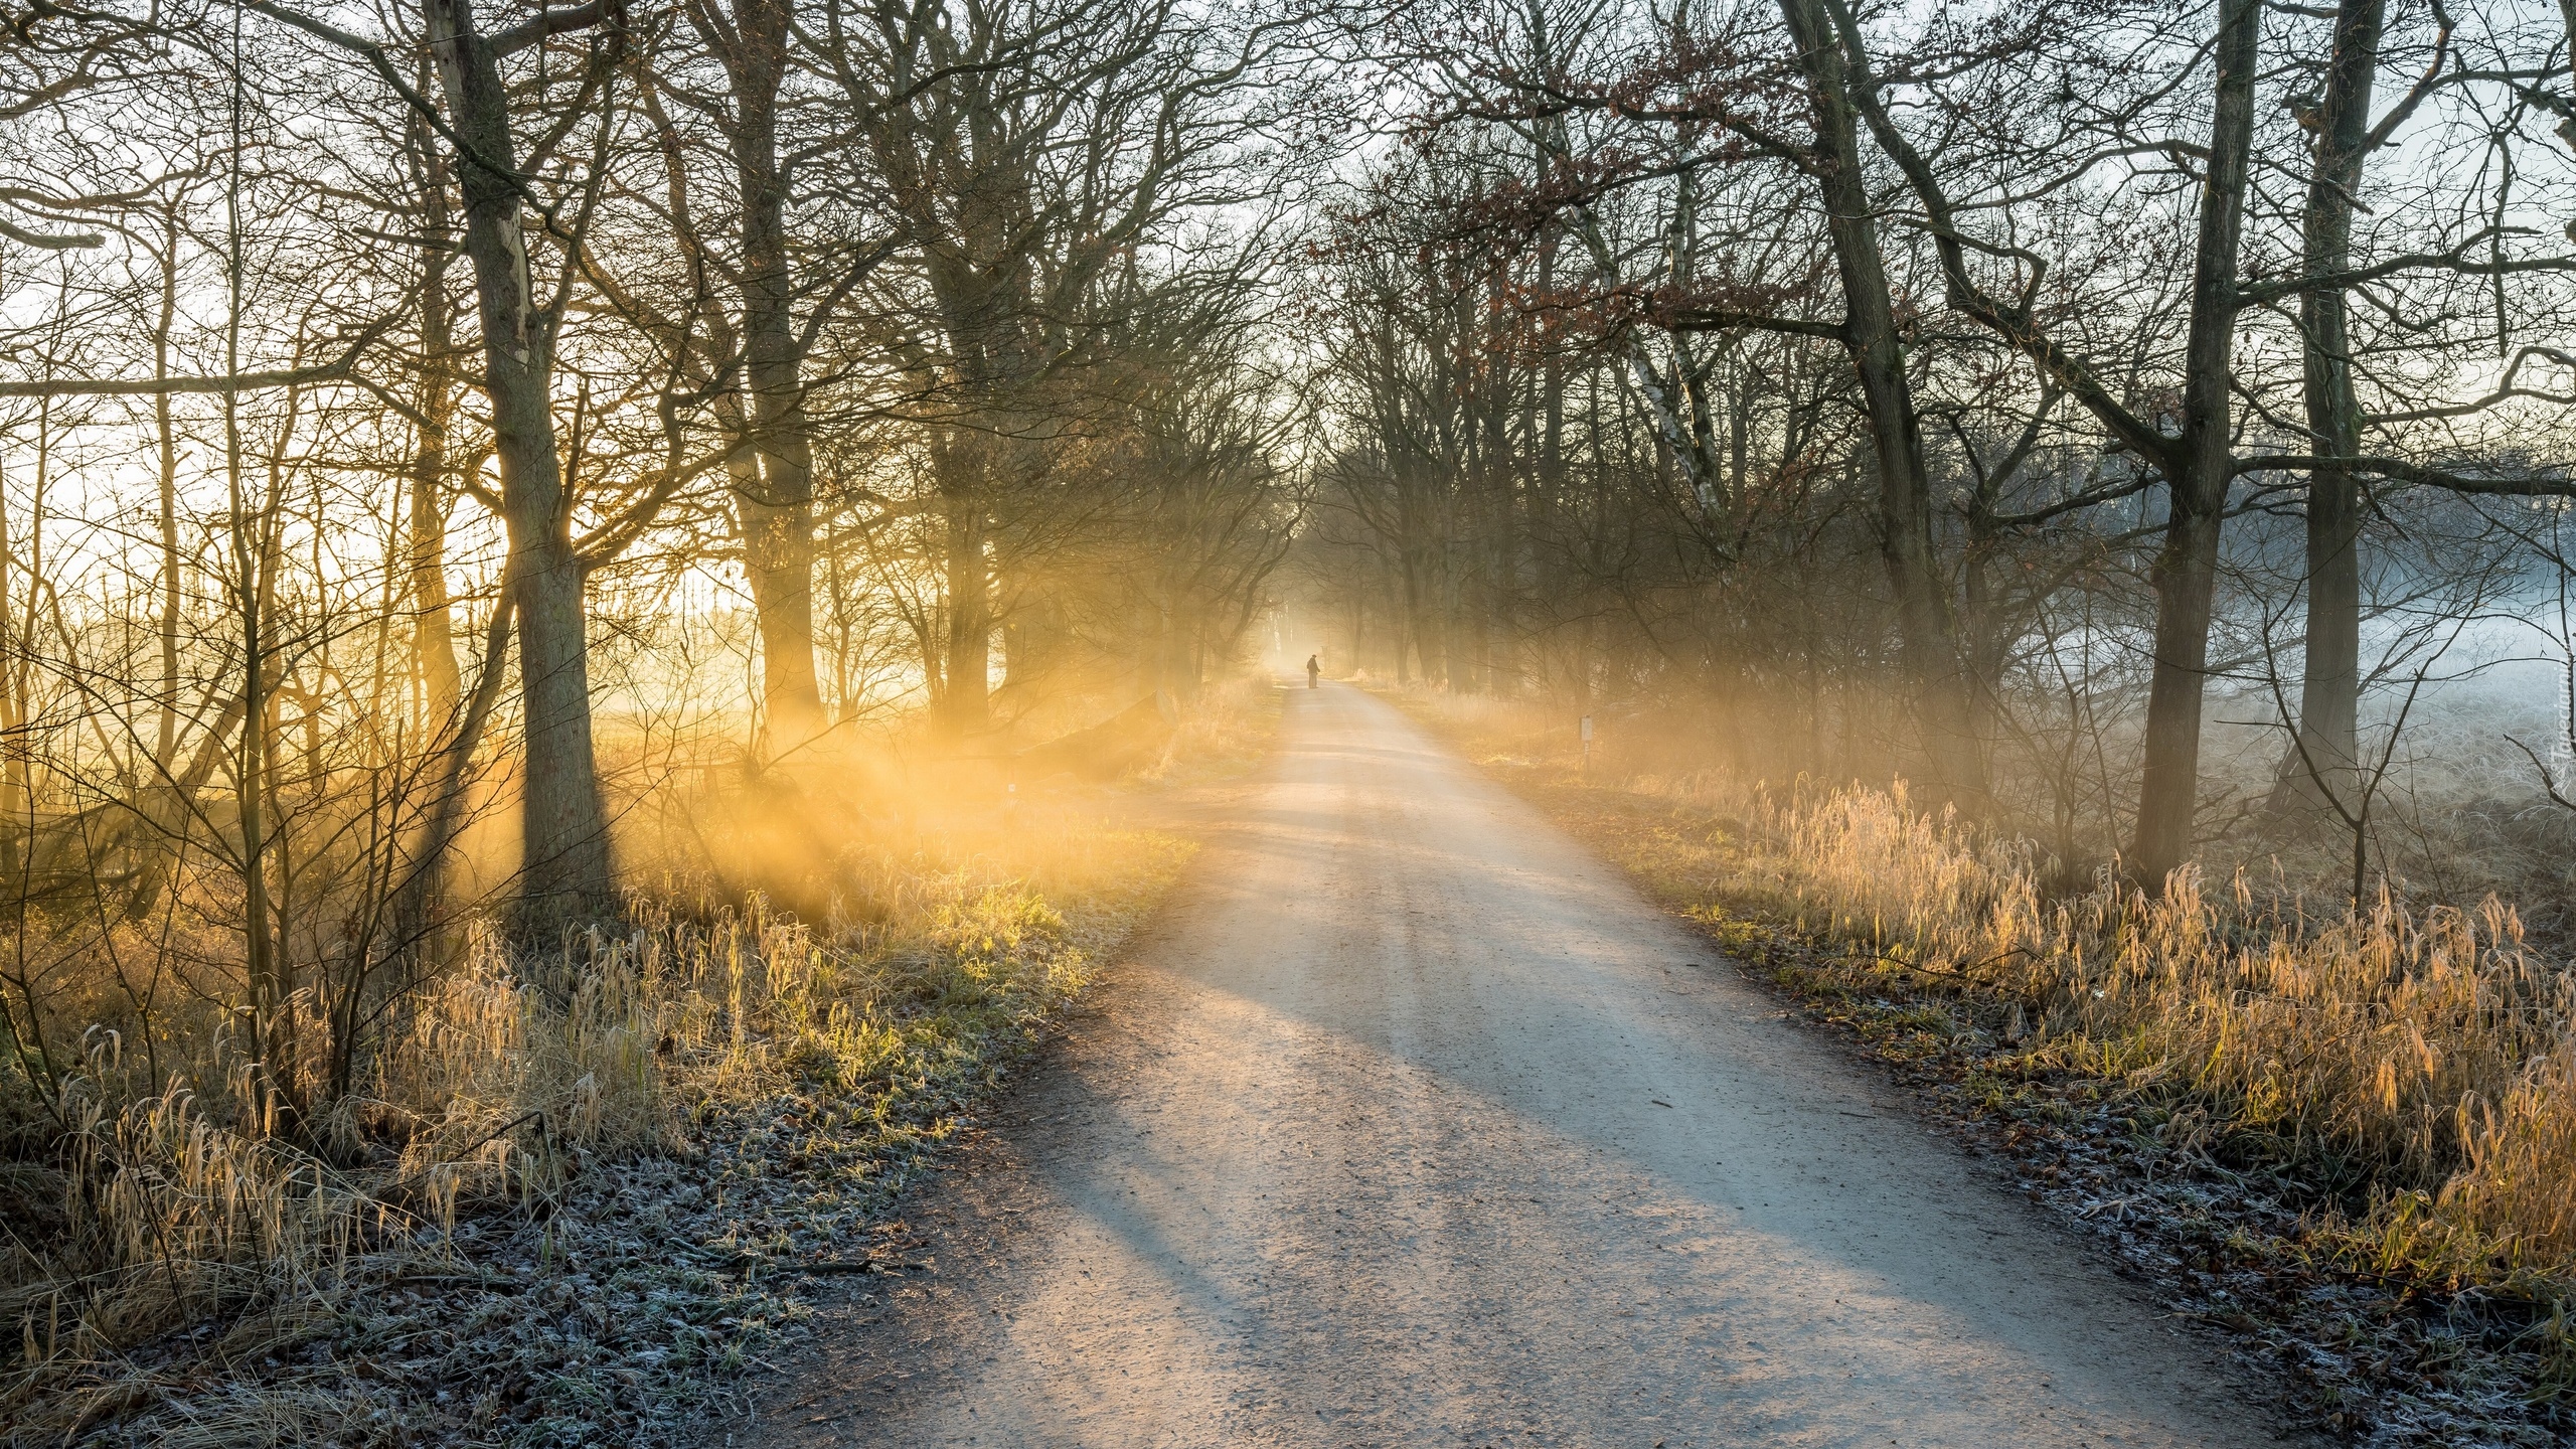
[[[2231,1129],[2349,1163],[2370,1186],[2439,1189],[2465,1212],[2506,1140],[2576,1122],[2550,1075],[2576,987],[2494,897],[2419,913],[2383,895],[2367,915],[2311,915],[2298,892],[2244,874],[2215,895],[2187,877],[2164,897],[2105,874],[2043,900],[2027,846],[1901,794],[1708,781],[1664,794],[1744,822],[1739,890],[1865,938],[1886,967],[2009,998],[2089,1070],[2205,1098]],[[2499,1243],[2537,1243],[2494,1227]]]

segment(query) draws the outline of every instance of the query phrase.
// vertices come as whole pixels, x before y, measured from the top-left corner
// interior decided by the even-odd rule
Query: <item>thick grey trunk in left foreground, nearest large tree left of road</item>
[[[425,13],[448,119],[469,147],[456,173],[482,309],[484,394],[510,536],[507,567],[518,588],[528,730],[520,761],[520,918],[541,928],[611,910],[616,890],[590,737],[585,567],[572,547],[572,498],[554,454],[554,330],[528,286],[510,95],[492,46],[474,28],[471,0],[425,0]]]

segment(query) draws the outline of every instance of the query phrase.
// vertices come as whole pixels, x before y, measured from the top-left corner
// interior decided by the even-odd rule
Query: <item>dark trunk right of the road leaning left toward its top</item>
[[[1842,343],[1868,402],[1870,451],[1878,464],[1878,547],[1896,593],[1899,665],[1932,766],[1940,802],[1965,812],[1986,807],[1986,763],[1960,665],[1958,614],[1932,547],[1932,482],[1924,472],[1922,423],[1896,335],[1878,209],[1860,168],[1860,131],[1842,46],[1821,0],[1780,0],[1798,67],[1816,108],[1816,183],[1842,276]]]

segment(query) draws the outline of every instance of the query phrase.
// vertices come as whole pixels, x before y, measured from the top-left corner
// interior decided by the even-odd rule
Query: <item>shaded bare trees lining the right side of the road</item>
[[[1314,611],[1373,670],[1692,696],[1754,771],[2148,884],[2324,822],[2360,895],[2416,696],[2496,619],[2540,632],[2486,663],[2566,663],[2571,26],[1401,8],[1319,248]],[[2566,730],[2486,786],[2555,792]]]

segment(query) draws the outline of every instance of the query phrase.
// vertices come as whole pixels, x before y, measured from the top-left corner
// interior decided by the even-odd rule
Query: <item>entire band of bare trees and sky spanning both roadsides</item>
[[[654,779],[891,712],[1007,755],[1283,606],[2143,884],[2295,828],[2360,897],[2427,691],[2576,699],[2568,41],[8,0],[10,1060],[59,1101],[183,1000],[345,1093],[461,918],[616,915]],[[2576,709],[2524,724],[2458,763],[2553,810]]]

